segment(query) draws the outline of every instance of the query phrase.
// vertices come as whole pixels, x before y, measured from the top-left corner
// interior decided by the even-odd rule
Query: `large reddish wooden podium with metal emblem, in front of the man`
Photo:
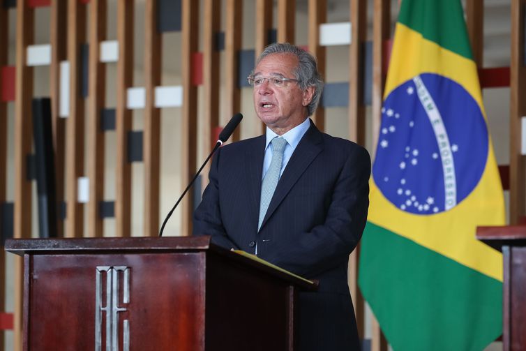
[[[209,237],[10,239],[24,350],[294,350],[311,282]]]

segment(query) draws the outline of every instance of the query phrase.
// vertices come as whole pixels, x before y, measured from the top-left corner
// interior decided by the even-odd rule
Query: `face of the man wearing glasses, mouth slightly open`
[[[269,54],[257,64],[255,77],[285,77],[294,79],[294,69],[298,59],[294,54]],[[276,87],[269,80],[264,80],[254,87],[254,108],[266,126],[282,135],[298,126],[307,115],[307,105],[313,98],[314,88],[301,90],[296,81],[284,82]]]

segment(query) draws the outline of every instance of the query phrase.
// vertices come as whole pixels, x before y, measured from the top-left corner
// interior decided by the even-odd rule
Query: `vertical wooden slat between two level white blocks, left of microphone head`
[[[146,1],[144,27],[144,236],[154,236],[159,230],[159,156],[160,110],[155,107],[155,89],[160,85],[162,55],[160,33],[157,31],[157,1]]]

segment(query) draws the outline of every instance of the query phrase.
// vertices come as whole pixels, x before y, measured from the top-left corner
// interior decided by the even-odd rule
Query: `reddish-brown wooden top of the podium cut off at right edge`
[[[502,246],[526,246],[526,225],[477,227],[476,239],[502,251]]]

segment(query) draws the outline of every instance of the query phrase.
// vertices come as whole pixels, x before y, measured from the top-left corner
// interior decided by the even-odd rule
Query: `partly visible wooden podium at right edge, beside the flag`
[[[502,251],[504,351],[526,351],[526,225],[478,227],[476,238]]]

